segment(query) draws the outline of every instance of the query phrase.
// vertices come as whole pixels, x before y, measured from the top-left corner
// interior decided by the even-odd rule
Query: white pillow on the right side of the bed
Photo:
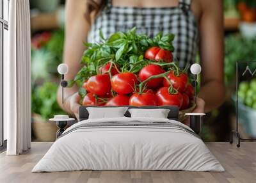
[[[167,118],[170,109],[129,109],[131,118]]]

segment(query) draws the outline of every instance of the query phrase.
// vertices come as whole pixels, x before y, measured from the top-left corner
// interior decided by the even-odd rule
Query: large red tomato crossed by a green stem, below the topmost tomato
[[[158,74],[163,74],[164,70],[159,65],[150,64],[145,67],[143,67],[140,70],[139,78],[140,81],[145,81],[148,79],[148,77],[155,76]],[[148,88],[159,88],[163,84],[163,77],[159,77],[156,79],[151,79],[150,81],[147,81],[147,87]]]

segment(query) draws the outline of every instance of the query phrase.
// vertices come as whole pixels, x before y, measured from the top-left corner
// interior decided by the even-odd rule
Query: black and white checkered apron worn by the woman
[[[194,63],[198,47],[198,29],[191,0],[179,0],[179,6],[163,8],[136,8],[112,6],[108,1],[106,8],[92,24],[88,42],[100,42],[99,29],[104,37],[116,31],[127,31],[136,27],[137,33],[154,36],[159,31],[173,33],[175,39],[173,52],[181,68]]]

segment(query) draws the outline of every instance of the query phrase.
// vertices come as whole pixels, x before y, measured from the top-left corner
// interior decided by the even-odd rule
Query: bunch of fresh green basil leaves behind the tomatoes
[[[148,47],[160,47],[166,51],[173,51],[172,40],[174,35],[162,35],[160,32],[154,38],[147,35],[136,34],[136,28],[126,33],[117,32],[109,38],[104,38],[100,31],[102,42],[96,44],[84,43],[87,47],[84,51],[81,63],[83,68],[77,73],[74,81],[70,81],[69,85],[76,82],[79,88],[83,82],[90,76],[99,72],[99,67],[105,65],[108,61],[112,61],[121,72],[138,72],[150,60],[145,60],[143,55]]]

